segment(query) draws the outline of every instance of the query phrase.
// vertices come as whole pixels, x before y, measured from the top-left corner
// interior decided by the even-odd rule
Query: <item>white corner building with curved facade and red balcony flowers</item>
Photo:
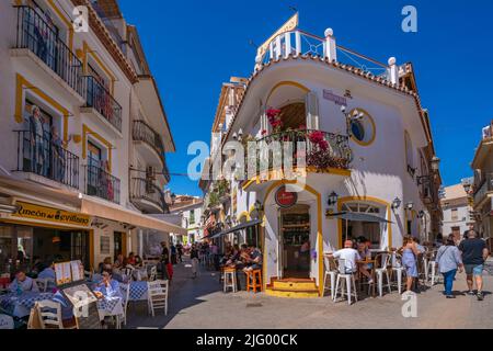
[[[244,145],[244,168],[229,141]],[[260,47],[249,79],[222,87],[206,165],[205,206],[220,213],[207,223],[226,227],[208,238],[260,247],[272,295],[321,296],[323,253],[346,238],[385,250],[439,233],[438,159],[412,65],[306,33],[297,16]],[[286,292],[282,279],[312,286]]]

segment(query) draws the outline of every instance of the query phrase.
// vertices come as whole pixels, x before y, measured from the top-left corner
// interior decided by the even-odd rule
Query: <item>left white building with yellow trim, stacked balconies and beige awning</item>
[[[73,24],[79,5],[87,32]],[[2,252],[15,260],[19,242],[30,260],[60,256],[90,268],[146,253],[148,233],[167,241],[180,231],[148,216],[168,212],[164,154],[174,143],[117,2],[1,1],[0,12]],[[51,238],[62,245],[41,245]]]

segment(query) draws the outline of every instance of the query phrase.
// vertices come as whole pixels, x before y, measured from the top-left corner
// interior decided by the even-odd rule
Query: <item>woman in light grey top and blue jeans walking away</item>
[[[438,270],[444,275],[444,293],[447,298],[455,298],[452,287],[457,270],[459,270],[459,273],[463,271],[462,258],[455,239],[455,235],[450,234],[445,246],[440,247],[436,254]]]

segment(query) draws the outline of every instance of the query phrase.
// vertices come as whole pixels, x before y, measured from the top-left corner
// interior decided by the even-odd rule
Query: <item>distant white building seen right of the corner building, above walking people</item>
[[[457,239],[460,239],[463,233],[474,225],[474,218],[471,218],[472,207],[463,185],[444,188],[444,197],[440,202],[444,211],[444,237],[454,234]]]

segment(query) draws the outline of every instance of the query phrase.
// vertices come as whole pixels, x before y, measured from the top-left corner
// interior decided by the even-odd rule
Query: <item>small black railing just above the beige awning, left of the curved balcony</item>
[[[119,179],[96,166],[87,166],[85,192],[119,204]]]

